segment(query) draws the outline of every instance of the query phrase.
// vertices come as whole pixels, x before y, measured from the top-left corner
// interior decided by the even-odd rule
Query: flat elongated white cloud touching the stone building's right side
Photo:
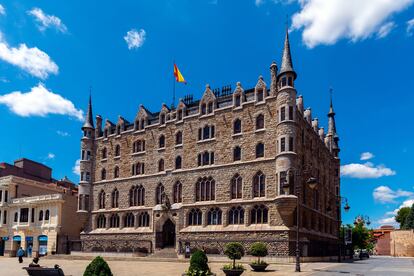
[[[396,172],[383,165],[374,166],[367,162],[365,164],[351,163],[341,166],[341,176],[352,178],[380,178],[395,175]]]

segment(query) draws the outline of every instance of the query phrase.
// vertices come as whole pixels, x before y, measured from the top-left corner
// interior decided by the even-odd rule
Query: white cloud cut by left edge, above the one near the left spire
[[[0,33],[0,59],[19,67],[29,74],[46,79],[49,74],[57,74],[59,67],[37,47],[28,48],[22,43],[18,48],[10,47]]]

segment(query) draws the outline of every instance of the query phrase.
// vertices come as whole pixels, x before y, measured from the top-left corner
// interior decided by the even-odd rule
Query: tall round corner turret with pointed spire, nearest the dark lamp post
[[[287,171],[296,168],[296,89],[290,52],[289,32],[286,28],[282,62],[277,75],[277,155],[276,172],[278,175],[279,194],[294,193],[294,179],[287,179]],[[297,169],[297,168],[296,168]]]

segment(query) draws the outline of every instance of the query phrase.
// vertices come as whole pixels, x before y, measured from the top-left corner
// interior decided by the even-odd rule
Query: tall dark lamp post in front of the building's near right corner
[[[285,194],[288,194],[289,188],[290,188],[290,181],[289,178],[292,175],[292,173],[294,173],[293,175],[296,177],[300,177],[302,176],[300,171],[296,171],[294,168],[290,168],[286,171],[286,178],[284,183],[283,183],[283,190],[285,192]],[[309,174],[309,170],[303,170],[303,174]],[[300,272],[300,250],[299,250],[299,195],[300,195],[300,188],[298,185],[298,181],[294,181],[295,183],[295,194],[296,194],[296,250],[295,250],[295,255],[296,255],[296,268],[295,268],[295,272]],[[311,188],[311,189],[315,189],[318,181],[316,178],[314,177],[309,177],[309,179],[306,181],[306,184]]]

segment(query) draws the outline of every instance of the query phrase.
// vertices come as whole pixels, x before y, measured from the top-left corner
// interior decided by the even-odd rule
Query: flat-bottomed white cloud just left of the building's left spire
[[[41,116],[60,114],[83,119],[83,111],[61,95],[49,91],[42,83],[32,87],[29,92],[14,91],[0,95],[0,104],[6,105],[13,113],[22,116]]]

